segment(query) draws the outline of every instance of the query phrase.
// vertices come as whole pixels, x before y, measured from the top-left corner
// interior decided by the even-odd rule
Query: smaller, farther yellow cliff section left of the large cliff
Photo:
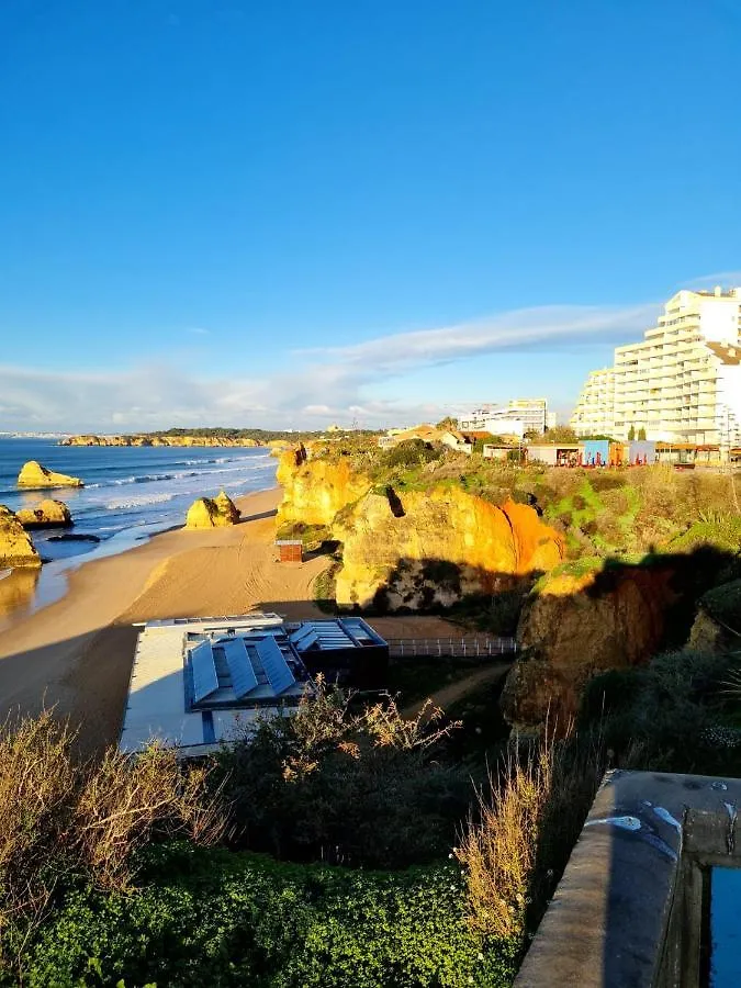
[[[284,452],[278,461],[278,483],[283,501],[278,524],[332,525],[343,508],[368,493],[371,481],[352,470],[349,460],[308,460],[303,446]]]

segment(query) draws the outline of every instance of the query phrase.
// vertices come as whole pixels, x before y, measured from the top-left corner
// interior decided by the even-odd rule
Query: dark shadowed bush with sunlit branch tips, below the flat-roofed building
[[[319,689],[220,755],[238,840],[299,861],[406,867],[447,853],[470,801],[448,763],[440,711],[403,718],[391,698],[356,711]]]

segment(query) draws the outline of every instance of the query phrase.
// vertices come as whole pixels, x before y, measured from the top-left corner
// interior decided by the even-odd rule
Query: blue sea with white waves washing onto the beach
[[[21,491],[15,481],[27,460],[79,476],[85,487]],[[30,598],[37,607],[59,597],[65,582],[58,577],[78,562],[122,552],[182,525],[197,497],[213,497],[222,489],[237,497],[274,483],[276,460],[267,449],[57,446],[55,439],[0,437],[0,504],[18,510],[55,497],[72,514],[71,532],[100,539],[57,541],[60,530],[34,531],[45,561],[42,574],[0,569],[0,616],[26,610]],[[23,588],[31,584],[35,592],[29,595]]]

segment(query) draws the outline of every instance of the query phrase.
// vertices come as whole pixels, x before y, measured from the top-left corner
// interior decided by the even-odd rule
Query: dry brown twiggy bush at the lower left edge
[[[127,889],[136,852],[153,839],[213,843],[223,833],[221,789],[209,770],[183,768],[153,748],[136,760],[110,749],[74,759],[75,737],[52,714],[0,729],[0,970],[12,964],[4,929],[42,921],[70,874]]]

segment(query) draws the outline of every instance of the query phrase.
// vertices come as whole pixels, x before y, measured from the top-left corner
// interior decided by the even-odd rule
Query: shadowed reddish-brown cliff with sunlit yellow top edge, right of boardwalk
[[[595,564],[543,576],[520,616],[523,658],[502,695],[506,719],[527,729],[549,717],[563,727],[591,676],[648,661],[677,599],[673,575],[670,568]]]

